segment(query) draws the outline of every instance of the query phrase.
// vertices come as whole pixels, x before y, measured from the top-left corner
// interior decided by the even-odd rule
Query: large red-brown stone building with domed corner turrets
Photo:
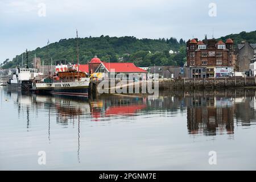
[[[216,70],[232,70],[236,64],[234,40],[198,39],[187,42],[187,67],[190,68],[189,77],[208,78],[230,76],[230,72],[217,73]],[[219,68],[219,69],[216,69]],[[217,74],[216,74],[217,73]]]

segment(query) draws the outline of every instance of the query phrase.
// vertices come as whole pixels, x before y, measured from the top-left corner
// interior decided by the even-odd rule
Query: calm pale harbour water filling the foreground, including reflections
[[[0,92],[0,169],[256,169],[255,90],[92,101]]]

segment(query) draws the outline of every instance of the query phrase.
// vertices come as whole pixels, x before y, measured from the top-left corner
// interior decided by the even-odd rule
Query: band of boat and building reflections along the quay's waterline
[[[48,110],[48,140],[50,118],[63,127],[75,120],[89,118],[99,122],[129,118],[136,115],[159,114],[171,117],[187,113],[187,129],[191,135],[234,134],[234,119],[241,126],[255,125],[255,90],[204,90],[202,92],[162,92],[160,96],[101,96],[97,100],[72,97],[52,97],[20,92],[8,92],[19,116],[26,113],[27,131],[31,127],[30,112]],[[81,117],[81,118],[80,118]],[[80,128],[78,136],[80,134]],[[79,151],[78,151],[79,152]]]

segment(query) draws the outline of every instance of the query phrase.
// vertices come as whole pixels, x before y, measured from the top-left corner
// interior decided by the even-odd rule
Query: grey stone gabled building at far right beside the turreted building
[[[239,72],[249,71],[250,61],[256,56],[256,44],[242,42],[237,48],[237,67]]]

